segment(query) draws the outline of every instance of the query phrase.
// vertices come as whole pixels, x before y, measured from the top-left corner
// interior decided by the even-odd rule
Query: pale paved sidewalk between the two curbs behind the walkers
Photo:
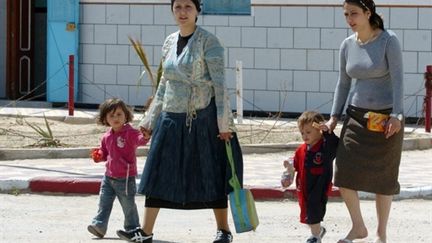
[[[291,153],[291,152],[290,152]],[[244,184],[262,188],[280,186],[282,161],[290,153],[245,154]],[[432,149],[403,151],[400,166],[402,198],[432,195]],[[138,171],[145,157],[139,157]],[[20,183],[38,176],[100,178],[104,164],[90,159],[33,159],[0,161],[0,189],[19,188]],[[26,188],[26,185],[23,186]]]

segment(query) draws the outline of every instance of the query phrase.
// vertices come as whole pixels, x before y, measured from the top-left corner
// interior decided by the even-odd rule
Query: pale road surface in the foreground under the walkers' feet
[[[0,194],[0,242],[121,242],[115,231],[123,222],[116,201],[106,238],[96,240],[86,227],[97,210],[98,197],[80,195],[18,196]],[[137,197],[140,213],[144,197]],[[363,200],[362,209],[370,236],[374,239],[375,209],[373,201]],[[308,228],[298,223],[296,201],[257,202],[260,225],[256,232],[234,234],[234,243],[305,242]],[[140,215],[142,218],[142,215]],[[231,221],[231,216],[229,217]],[[336,242],[349,230],[348,213],[340,201],[328,203],[324,225],[328,232],[323,242]],[[400,200],[392,205],[389,242],[431,242],[432,201]],[[234,230],[231,224],[232,230]],[[156,223],[155,243],[212,242],[215,224],[210,210],[161,210]]]

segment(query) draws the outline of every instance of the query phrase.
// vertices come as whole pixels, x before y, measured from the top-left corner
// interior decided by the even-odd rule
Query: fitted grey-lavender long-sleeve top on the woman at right
[[[353,79],[356,82],[348,104],[371,110],[392,108],[392,113],[403,113],[402,51],[393,32],[385,30],[364,45],[351,35],[342,42],[339,55],[332,116],[342,114]]]

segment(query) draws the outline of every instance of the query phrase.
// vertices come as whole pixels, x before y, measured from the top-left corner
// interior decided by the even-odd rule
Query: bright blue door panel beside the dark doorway
[[[47,21],[47,101],[68,101],[69,55],[75,56],[74,97],[76,100],[79,0],[48,0]]]

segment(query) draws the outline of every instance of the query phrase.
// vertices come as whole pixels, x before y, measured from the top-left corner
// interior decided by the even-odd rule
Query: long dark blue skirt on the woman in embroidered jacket
[[[231,169],[225,142],[218,135],[214,99],[197,111],[190,130],[185,113],[162,112],[138,188],[146,196],[146,207],[226,208]],[[243,158],[233,135],[233,157],[242,183]]]

